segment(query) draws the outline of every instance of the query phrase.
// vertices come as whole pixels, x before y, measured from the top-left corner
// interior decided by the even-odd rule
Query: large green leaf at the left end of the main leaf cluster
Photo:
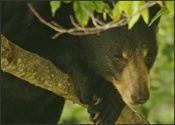
[[[80,1],[73,2],[75,17],[81,26],[86,26],[89,21],[89,14],[84,10],[83,4]]]

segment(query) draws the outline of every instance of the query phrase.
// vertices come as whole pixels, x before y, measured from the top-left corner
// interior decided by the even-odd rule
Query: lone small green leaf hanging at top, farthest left
[[[50,6],[51,6],[51,12],[52,16],[55,16],[55,12],[60,8],[61,1],[51,1]]]

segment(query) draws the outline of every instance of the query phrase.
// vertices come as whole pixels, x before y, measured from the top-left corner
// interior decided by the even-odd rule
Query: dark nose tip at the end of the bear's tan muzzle
[[[149,93],[139,93],[131,96],[132,101],[136,104],[144,104],[149,99]]]

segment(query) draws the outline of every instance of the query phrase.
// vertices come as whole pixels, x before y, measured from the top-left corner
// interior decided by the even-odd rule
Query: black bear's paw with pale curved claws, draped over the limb
[[[125,105],[118,94],[106,93],[101,97],[94,95],[88,105],[90,118],[95,124],[115,123]]]

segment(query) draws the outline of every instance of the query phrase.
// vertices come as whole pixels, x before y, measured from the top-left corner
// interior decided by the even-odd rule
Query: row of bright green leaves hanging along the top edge
[[[65,1],[63,1],[65,2]],[[148,24],[149,22],[149,9],[144,9],[142,12],[137,13],[135,16],[133,16],[131,19],[129,19],[130,16],[135,14],[139,11],[139,9],[145,5],[145,1],[118,1],[114,3],[113,1],[113,7],[110,7],[107,3],[104,1],[74,1],[73,2],[73,10],[75,13],[75,17],[78,21],[78,23],[81,26],[86,26],[90,20],[90,17],[94,12],[102,13],[103,18],[106,20],[106,15],[108,15],[112,22],[119,21],[122,17],[128,18],[128,29],[131,29],[135,23],[140,19],[142,16],[144,22]],[[66,2],[70,3],[70,2]],[[158,12],[158,14],[155,16],[155,18],[152,19],[150,25],[162,14],[170,14],[174,16],[174,1],[166,1],[165,5],[163,5],[163,2],[157,1],[157,3],[162,6],[162,9]],[[52,16],[55,15],[55,12],[60,8],[61,1],[51,1],[51,10],[52,10]]]

